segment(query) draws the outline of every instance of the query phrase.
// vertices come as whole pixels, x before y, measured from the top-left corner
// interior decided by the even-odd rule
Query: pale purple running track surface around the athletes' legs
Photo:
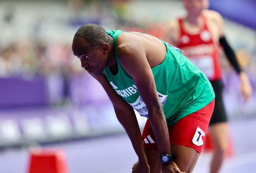
[[[220,173],[256,173],[256,118],[230,122],[234,153]],[[131,173],[137,161],[126,134],[50,144],[66,152],[70,173]],[[26,173],[28,149],[0,151],[0,173]],[[210,154],[202,153],[193,173],[208,173]]]

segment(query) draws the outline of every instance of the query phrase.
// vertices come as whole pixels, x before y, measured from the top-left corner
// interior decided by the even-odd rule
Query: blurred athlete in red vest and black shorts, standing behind
[[[219,45],[223,47],[226,57],[238,73],[244,100],[248,100],[252,94],[252,87],[226,40],[222,16],[218,12],[206,10],[208,0],[182,2],[186,16],[169,22],[164,29],[163,39],[184,50],[183,54],[205,73],[214,88],[215,108],[210,120],[214,152],[210,173],[217,173],[224,160],[228,142],[228,124],[222,100]]]

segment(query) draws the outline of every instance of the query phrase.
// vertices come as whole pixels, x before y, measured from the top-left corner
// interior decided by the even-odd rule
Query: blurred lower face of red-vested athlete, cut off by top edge
[[[184,7],[189,14],[200,15],[209,6],[208,0],[183,0]]]

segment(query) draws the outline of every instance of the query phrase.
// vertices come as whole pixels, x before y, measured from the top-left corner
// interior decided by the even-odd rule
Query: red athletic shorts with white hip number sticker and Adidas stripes
[[[214,100],[204,106],[204,108],[178,120],[173,126],[168,126],[170,144],[184,145],[201,153],[213,108]],[[142,132],[142,139],[145,148],[157,149],[156,138],[149,120],[146,121]]]

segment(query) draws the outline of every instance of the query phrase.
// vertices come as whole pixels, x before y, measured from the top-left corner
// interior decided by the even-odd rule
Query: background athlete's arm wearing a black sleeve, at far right
[[[225,37],[225,32],[224,32],[224,20],[222,18],[222,16],[220,14],[218,14],[216,12],[216,21],[219,25],[219,30],[220,30],[220,45],[222,45],[224,53],[226,55],[226,57],[228,58],[228,61],[230,62],[230,64],[234,67],[234,69],[236,70],[236,72],[239,75],[240,78],[240,89],[242,92],[242,95],[244,96],[244,100],[247,101],[248,98],[250,97],[250,95],[252,94],[252,86],[250,85],[250,81],[246,75],[246,73],[244,73],[244,71],[242,71],[242,68],[240,67],[236,55],[233,51],[233,49],[230,47],[228,41],[226,40]]]

